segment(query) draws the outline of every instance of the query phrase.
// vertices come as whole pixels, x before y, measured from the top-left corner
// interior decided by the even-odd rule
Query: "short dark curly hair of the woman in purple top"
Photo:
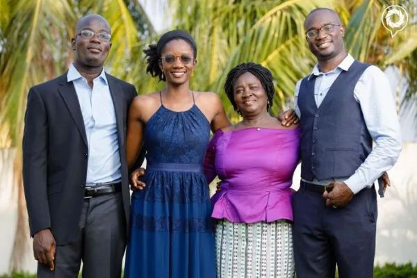
[[[227,78],[224,83],[224,92],[226,92],[226,95],[229,98],[231,105],[233,105],[234,110],[238,111],[238,107],[234,101],[233,86],[239,76],[245,72],[250,72],[261,82],[263,90],[265,90],[266,96],[268,97],[269,104],[267,104],[266,110],[269,111],[270,107],[272,106],[272,99],[275,95],[275,87],[272,79],[272,74],[266,67],[252,62],[237,65],[227,74]]]

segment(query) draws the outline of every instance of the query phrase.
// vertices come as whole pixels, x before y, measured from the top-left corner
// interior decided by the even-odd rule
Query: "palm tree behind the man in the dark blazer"
[[[0,149],[15,148],[17,232],[10,270],[20,270],[28,252],[28,227],[22,186],[22,133],[28,89],[62,74],[72,60],[70,38],[79,17],[99,13],[113,31],[107,66],[125,77],[142,33],[153,33],[136,1],[0,0]],[[145,24],[147,22],[147,28]]]

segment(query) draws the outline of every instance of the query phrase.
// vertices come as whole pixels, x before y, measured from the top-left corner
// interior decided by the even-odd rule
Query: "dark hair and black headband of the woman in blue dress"
[[[194,58],[197,56],[197,44],[195,44],[193,37],[186,31],[172,30],[163,34],[156,44],[149,44],[149,48],[143,51],[147,62],[146,73],[154,77],[158,76],[159,81],[166,80],[159,67],[159,60],[161,59],[163,48],[171,40],[184,40],[188,42],[190,47],[193,48]]]

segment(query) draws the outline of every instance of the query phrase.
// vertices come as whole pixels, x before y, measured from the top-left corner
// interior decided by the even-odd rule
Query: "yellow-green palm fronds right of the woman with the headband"
[[[410,13],[415,10],[415,1],[400,4]],[[316,7],[334,8],[341,15],[352,56],[382,68],[397,65],[410,77],[416,76],[416,22],[409,22],[395,40],[389,39],[380,20],[382,10],[391,5],[389,1],[172,0],[170,5],[172,27],[190,31],[199,46],[193,85],[218,92],[222,99],[227,72],[252,60],[275,76],[277,96],[272,111],[286,108],[297,80],[316,63],[307,48],[303,26],[306,15]],[[236,115],[228,101],[224,105],[229,116]]]

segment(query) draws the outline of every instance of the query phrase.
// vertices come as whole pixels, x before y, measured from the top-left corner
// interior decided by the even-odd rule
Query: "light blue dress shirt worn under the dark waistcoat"
[[[348,71],[354,62],[354,58],[348,54],[346,58],[332,71],[320,72],[318,65],[313,68],[309,76],[316,75],[314,85],[314,99],[317,107],[329,92],[330,86],[343,70]],[[298,93],[301,80],[295,86],[295,113],[302,117],[297,106]],[[368,67],[352,92],[354,99],[361,106],[366,127],[375,142],[372,152],[359,168],[350,177],[338,179],[344,181],[353,193],[358,193],[365,187],[371,187],[381,174],[389,170],[398,159],[401,151],[401,132],[398,116],[395,112],[395,102],[391,86],[384,72],[378,67]],[[309,181],[321,185],[327,185],[334,180]]]

